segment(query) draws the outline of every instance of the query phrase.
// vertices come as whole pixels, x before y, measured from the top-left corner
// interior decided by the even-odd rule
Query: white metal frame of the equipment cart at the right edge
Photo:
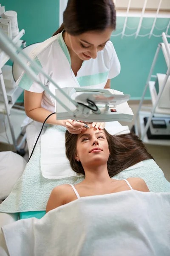
[[[158,103],[159,99],[161,97],[161,94],[164,91],[164,87],[167,83],[167,79],[170,76],[170,44],[168,44],[167,38],[170,38],[170,36],[166,35],[164,32],[162,33],[162,39],[163,43],[159,43],[157,49],[156,49],[156,54],[153,59],[153,63],[150,68],[150,73],[147,78],[147,82],[144,87],[144,92],[142,95],[142,99],[139,103],[139,108],[136,113],[136,118],[135,118],[135,125],[133,125],[131,131],[135,132],[136,135],[139,136],[139,133],[141,134],[141,140],[146,143],[146,144],[153,144],[153,145],[167,145],[170,146],[170,140],[150,140],[147,138],[147,130],[150,127],[151,121],[153,116],[154,117],[170,117],[170,109],[168,108],[159,108]],[[155,81],[151,81],[151,79],[156,79],[157,76],[153,75],[153,70],[160,52],[160,49],[162,49],[164,59],[167,64],[167,73],[164,76],[163,83],[161,85],[161,90],[159,90],[159,93],[156,93],[156,88],[155,88]],[[142,106],[144,96],[146,94],[147,88],[149,87],[150,90],[150,95],[151,95],[151,100],[152,100],[152,107],[144,107]],[[170,93],[170,92],[169,92]],[[150,109],[150,112],[148,111],[141,111],[141,108],[143,109]],[[147,117],[147,122],[146,125],[144,125],[144,117]],[[140,123],[140,131],[138,129],[138,119]]]

